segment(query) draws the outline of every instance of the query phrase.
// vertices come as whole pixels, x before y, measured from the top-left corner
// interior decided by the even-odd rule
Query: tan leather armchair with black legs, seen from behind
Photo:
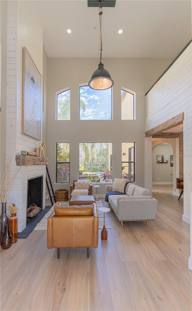
[[[98,247],[98,212],[96,204],[69,206],[56,205],[47,221],[47,248]]]

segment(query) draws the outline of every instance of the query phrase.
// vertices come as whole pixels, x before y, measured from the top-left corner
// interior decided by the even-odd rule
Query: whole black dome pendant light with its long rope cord
[[[94,71],[92,74],[91,80],[89,81],[88,85],[91,89],[93,90],[107,90],[110,87],[113,86],[114,82],[110,76],[110,73],[104,69],[104,65],[101,61],[102,57],[102,32],[101,32],[101,16],[102,16],[102,7],[99,5],[99,30],[100,30],[100,43],[99,43],[99,48],[100,48],[100,62],[98,64],[97,70]]]

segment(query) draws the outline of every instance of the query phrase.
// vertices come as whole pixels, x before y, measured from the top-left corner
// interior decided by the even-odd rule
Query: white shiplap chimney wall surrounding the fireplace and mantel
[[[19,169],[15,155],[21,150],[34,151],[39,141],[22,134],[22,63],[23,46],[30,53],[41,76],[43,72],[43,29],[31,1],[8,1],[7,12],[7,128],[6,160],[11,159],[11,176]],[[45,165],[22,166],[9,193],[7,205],[19,208],[18,232],[26,226],[27,180],[43,176],[45,207]]]

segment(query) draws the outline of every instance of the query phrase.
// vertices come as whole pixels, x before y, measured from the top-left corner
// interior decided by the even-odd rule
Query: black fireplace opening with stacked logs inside
[[[43,209],[43,176],[27,181],[27,219],[36,216]]]

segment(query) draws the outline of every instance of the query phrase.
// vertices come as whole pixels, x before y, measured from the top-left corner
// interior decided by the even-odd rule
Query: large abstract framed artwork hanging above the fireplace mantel
[[[22,134],[41,139],[41,75],[23,47]]]

